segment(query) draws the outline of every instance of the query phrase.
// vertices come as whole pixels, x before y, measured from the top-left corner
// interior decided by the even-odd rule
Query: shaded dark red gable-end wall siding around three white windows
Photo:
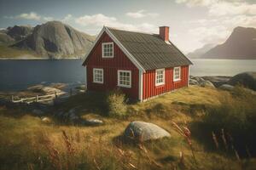
[[[139,71],[128,59],[117,44],[113,42],[113,58],[102,59],[102,42],[113,42],[106,32],[97,42],[95,48],[86,59],[87,88],[89,90],[106,91],[117,88],[118,70],[131,71],[131,88],[121,88],[125,94],[133,99],[138,99]],[[102,68],[104,71],[103,84],[93,82],[93,68]]]

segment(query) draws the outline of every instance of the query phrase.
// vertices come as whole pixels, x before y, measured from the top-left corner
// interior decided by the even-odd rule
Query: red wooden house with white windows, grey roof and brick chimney
[[[84,60],[88,90],[121,88],[140,101],[187,87],[192,63],[169,41],[169,27],[159,34],[103,27]]]

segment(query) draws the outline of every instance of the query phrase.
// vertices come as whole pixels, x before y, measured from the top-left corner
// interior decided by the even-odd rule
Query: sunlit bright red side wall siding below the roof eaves
[[[143,99],[188,86],[189,65],[181,66],[181,80],[173,82],[173,68],[165,69],[165,84],[155,86],[155,70],[143,73]]]

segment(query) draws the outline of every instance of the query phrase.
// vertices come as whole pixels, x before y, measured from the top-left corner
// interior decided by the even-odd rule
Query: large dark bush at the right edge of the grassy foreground
[[[237,88],[236,94],[239,93],[238,91],[243,92],[241,88]],[[219,133],[224,129],[234,139],[237,150],[245,155],[245,150],[248,148],[255,156],[256,98],[244,99],[244,97],[243,95],[240,99],[221,99],[221,105],[207,109],[203,123],[205,127],[209,127],[207,129],[210,129],[210,132]]]

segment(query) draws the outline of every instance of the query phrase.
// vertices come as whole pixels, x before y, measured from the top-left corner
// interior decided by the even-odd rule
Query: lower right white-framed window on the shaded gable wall
[[[118,70],[118,86],[131,88],[131,71]]]

